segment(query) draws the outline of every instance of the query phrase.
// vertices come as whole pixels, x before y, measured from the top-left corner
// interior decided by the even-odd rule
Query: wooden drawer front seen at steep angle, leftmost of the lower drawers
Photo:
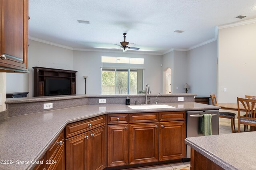
[[[62,141],[62,143],[60,143]],[[58,138],[54,141],[52,146],[47,150],[46,155],[47,155],[47,160],[53,160],[53,157],[57,153],[58,149],[61,147],[61,145],[64,144],[64,131],[60,133]]]

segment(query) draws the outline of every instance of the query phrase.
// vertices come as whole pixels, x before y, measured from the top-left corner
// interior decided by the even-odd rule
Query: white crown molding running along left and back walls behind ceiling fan
[[[38,41],[40,43],[54,45],[56,47],[61,47],[61,48],[64,48],[64,49],[69,49],[69,50],[72,50],[72,51],[92,51],[92,52],[107,52],[107,53],[124,53],[122,50],[118,50],[118,49],[110,50],[110,49],[79,49],[79,48],[72,48],[72,47],[68,47],[66,45],[61,45],[61,44],[53,43],[53,42],[50,42],[50,41],[45,41],[43,39],[35,38],[35,37],[30,36],[30,35],[28,35],[28,39],[34,40],[34,41]],[[128,53],[128,54],[144,54],[144,55],[162,55],[162,53],[154,53],[154,52],[146,52],[146,51],[126,51],[125,53]]]

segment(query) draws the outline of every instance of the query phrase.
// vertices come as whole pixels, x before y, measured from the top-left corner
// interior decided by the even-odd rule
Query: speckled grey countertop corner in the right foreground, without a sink
[[[185,143],[224,169],[256,169],[256,132],[190,137]]]

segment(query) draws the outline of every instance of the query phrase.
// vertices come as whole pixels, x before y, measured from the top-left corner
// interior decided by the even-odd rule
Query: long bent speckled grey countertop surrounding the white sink
[[[131,109],[126,105],[86,105],[8,117],[0,121],[0,160],[14,164],[0,164],[0,169],[32,169],[33,164],[16,161],[39,160],[68,123],[112,113],[142,113],[158,111],[186,111],[220,109],[194,102],[167,103],[172,109]]]

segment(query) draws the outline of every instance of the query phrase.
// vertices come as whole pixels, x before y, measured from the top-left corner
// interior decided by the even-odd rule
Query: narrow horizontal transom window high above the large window
[[[144,64],[143,58],[101,57],[101,63]]]

